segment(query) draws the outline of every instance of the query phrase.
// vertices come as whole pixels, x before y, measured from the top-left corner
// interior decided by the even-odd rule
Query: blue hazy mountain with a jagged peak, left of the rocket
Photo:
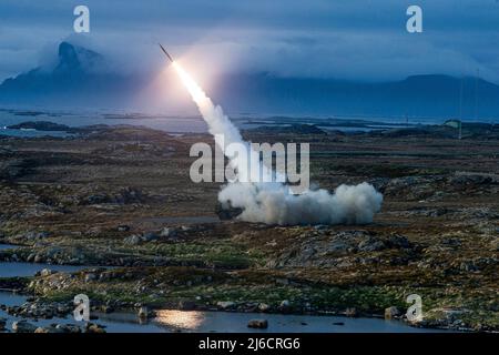
[[[100,53],[61,42],[53,65],[41,65],[4,80],[0,85],[0,103],[112,108],[132,95],[145,80],[115,73]]]

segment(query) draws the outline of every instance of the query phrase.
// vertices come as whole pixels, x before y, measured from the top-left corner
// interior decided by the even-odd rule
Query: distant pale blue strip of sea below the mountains
[[[320,123],[330,122],[330,116],[293,116],[291,114],[253,114],[243,113],[230,115],[234,124],[240,129],[253,129],[262,125],[288,125],[291,123],[314,123],[324,130],[340,130],[345,132],[371,131],[400,125],[417,124],[441,124],[446,119],[435,118],[368,118],[368,116],[334,116],[334,126],[323,126]],[[281,119],[282,118],[282,119]],[[345,121],[345,125],[338,122]],[[116,112],[82,112],[82,111],[44,111],[44,110],[9,110],[0,109],[0,134],[14,136],[64,136],[65,132],[49,132],[35,130],[11,130],[9,125],[19,124],[27,121],[50,121],[65,124],[68,126],[84,126],[95,124],[131,124],[142,125],[170,133],[205,133],[207,125],[201,116],[179,116],[179,115],[152,115],[142,113],[116,113]],[[352,122],[368,121],[374,124],[364,126],[353,126]],[[487,122],[487,120],[483,120]],[[488,122],[491,123],[491,122]]]

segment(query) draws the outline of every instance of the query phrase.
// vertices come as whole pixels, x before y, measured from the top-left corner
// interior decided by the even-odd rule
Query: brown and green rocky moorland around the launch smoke
[[[462,140],[430,126],[384,134],[297,129],[244,134],[309,142],[312,179],[322,187],[373,183],[385,197],[373,224],[218,220],[220,185],[189,179],[189,149],[213,144],[207,134],[94,126],[67,139],[0,136],[0,242],[18,245],[0,250],[0,261],[92,266],[0,278],[0,288],[32,296],[9,312],[50,317],[85,293],[100,312],[405,318],[406,297],[418,294],[424,318],[415,326],[499,329],[493,126],[464,128]]]

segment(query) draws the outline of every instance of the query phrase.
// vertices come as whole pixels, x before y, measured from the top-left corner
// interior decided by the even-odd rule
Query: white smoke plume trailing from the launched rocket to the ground
[[[237,128],[214,105],[204,91],[175,62],[173,64],[191,93],[212,135],[223,135],[225,144],[248,144]],[[216,141],[222,151],[222,143]],[[234,163],[234,162],[232,162]],[[251,169],[251,168],[249,168]],[[365,224],[373,222],[381,207],[383,195],[366,182],[358,185],[340,185],[332,194],[326,190],[310,190],[303,194],[291,193],[284,183],[234,182],[218,194],[223,206],[242,209],[238,219],[268,224]]]

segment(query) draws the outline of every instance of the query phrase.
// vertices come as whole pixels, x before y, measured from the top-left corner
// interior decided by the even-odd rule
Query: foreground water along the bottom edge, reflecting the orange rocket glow
[[[21,305],[26,302],[22,295],[0,292],[0,304],[8,306]],[[96,314],[99,320],[92,321],[106,327],[109,333],[428,333],[437,329],[422,329],[409,327],[397,321],[377,318],[347,318],[337,316],[307,316],[279,315],[259,313],[232,312],[197,312],[197,311],[157,311],[157,317],[150,322],[141,322],[132,313]],[[8,320],[8,328],[20,317],[12,317],[0,311],[0,317]],[[265,318],[267,329],[252,329],[247,322],[255,318]],[[77,324],[71,316],[52,320],[27,320],[28,322],[47,326],[57,324]]]

